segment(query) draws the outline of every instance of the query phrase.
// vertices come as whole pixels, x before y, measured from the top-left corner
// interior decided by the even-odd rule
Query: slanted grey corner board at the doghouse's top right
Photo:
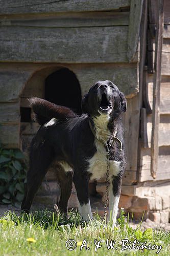
[[[142,6],[143,0],[131,0],[128,32],[128,59],[130,62],[135,57],[139,42]]]

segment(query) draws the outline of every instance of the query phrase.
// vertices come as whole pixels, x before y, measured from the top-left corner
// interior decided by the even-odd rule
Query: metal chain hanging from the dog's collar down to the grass
[[[106,151],[107,151],[107,171],[106,171],[106,197],[105,197],[104,218],[106,218],[108,203],[109,203],[109,192],[108,192],[108,188],[109,188],[109,170],[110,170],[110,148],[109,148],[109,143],[107,143]]]

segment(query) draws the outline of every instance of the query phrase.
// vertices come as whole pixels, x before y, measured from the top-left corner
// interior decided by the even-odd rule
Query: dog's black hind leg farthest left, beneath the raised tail
[[[48,166],[53,161],[53,151],[43,142],[41,145],[32,146],[30,154],[30,167],[27,173],[25,196],[21,204],[21,210],[29,213],[33,199],[47,172]]]

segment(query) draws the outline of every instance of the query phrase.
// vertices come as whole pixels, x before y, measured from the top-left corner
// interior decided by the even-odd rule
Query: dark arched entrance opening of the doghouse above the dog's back
[[[57,70],[45,79],[44,98],[57,105],[67,106],[78,114],[82,113],[80,84],[74,72],[67,68]]]

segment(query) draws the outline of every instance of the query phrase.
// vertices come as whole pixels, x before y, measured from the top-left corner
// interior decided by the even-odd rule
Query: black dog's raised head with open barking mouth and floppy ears
[[[109,80],[93,84],[82,100],[82,110],[91,116],[126,112],[127,101],[122,92]]]

